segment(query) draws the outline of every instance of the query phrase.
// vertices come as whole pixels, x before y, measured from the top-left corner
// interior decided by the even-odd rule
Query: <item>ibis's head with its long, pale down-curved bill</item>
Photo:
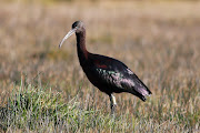
[[[72,24],[72,29],[66,34],[66,37],[62,39],[62,41],[59,44],[59,48],[61,48],[62,43],[73,33],[80,33],[84,31],[84,23],[82,21],[76,21]]]

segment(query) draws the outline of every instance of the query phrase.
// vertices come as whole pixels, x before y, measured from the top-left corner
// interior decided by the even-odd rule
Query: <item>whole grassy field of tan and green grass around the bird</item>
[[[200,132],[200,2],[0,3],[0,131]],[[149,86],[147,102],[92,86],[76,37],[124,62]]]

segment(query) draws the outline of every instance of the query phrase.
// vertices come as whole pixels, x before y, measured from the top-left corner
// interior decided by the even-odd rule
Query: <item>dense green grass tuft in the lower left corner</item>
[[[0,106],[0,127],[4,131],[42,132],[48,127],[56,130],[63,123],[73,127],[79,126],[79,115],[84,117],[93,111],[79,109],[76,98],[66,103],[60,93],[53,93],[51,88],[20,84],[14,85],[7,104]]]

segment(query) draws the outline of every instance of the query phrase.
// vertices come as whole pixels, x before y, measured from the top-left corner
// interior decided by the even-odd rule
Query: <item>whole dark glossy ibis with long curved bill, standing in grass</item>
[[[77,37],[77,52],[80,65],[88,80],[101,92],[109,95],[111,114],[114,113],[117,108],[113,93],[131,93],[143,102],[147,96],[152,94],[148,86],[124,63],[87,50],[86,25],[82,21],[73,22],[72,29],[61,40],[59,48],[73,33]]]

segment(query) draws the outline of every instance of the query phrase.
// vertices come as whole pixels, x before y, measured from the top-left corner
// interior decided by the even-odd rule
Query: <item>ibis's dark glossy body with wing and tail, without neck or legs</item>
[[[90,82],[107,94],[129,92],[142,101],[151,94],[142,81],[116,59],[89,53],[89,61],[81,65]]]

